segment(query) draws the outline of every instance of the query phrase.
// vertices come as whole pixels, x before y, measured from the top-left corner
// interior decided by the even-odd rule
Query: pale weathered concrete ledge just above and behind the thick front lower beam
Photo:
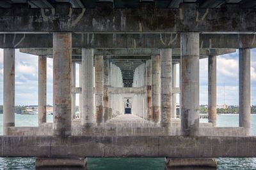
[[[141,118],[142,119],[142,118]],[[130,119],[131,120],[131,119]],[[79,125],[77,125],[79,124]],[[168,133],[164,127],[143,120],[132,122],[113,121],[102,126],[81,127],[81,121],[72,126],[73,136],[180,136],[180,124],[171,124]],[[6,132],[10,136],[52,136],[52,124],[44,127],[8,127]],[[209,127],[200,124],[200,136],[246,136],[244,127]]]

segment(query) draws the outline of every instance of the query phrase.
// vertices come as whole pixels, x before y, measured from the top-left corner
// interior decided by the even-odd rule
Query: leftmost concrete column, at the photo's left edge
[[[3,134],[8,135],[6,127],[15,126],[15,49],[4,49],[3,84]]]

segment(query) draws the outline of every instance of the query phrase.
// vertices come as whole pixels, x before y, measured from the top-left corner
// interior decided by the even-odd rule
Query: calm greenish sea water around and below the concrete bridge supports
[[[238,115],[218,115],[218,126],[237,127]],[[47,115],[52,122],[52,115]],[[201,119],[200,122],[207,122]],[[37,126],[37,115],[15,115],[16,126]],[[256,115],[252,115],[252,135],[256,135]],[[0,134],[3,134],[3,114],[0,115]],[[164,158],[88,158],[88,169],[164,169]],[[35,158],[0,158],[0,169],[35,169]],[[219,158],[218,169],[256,169],[256,158]]]

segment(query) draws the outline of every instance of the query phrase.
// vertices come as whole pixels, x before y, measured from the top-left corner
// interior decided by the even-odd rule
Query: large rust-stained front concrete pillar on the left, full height
[[[53,135],[71,135],[72,33],[53,32]]]

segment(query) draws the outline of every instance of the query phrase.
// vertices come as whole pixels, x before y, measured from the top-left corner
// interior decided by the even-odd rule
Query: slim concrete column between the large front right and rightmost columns
[[[217,120],[217,87],[216,87],[216,55],[208,57],[208,114],[209,122],[216,126]]]

